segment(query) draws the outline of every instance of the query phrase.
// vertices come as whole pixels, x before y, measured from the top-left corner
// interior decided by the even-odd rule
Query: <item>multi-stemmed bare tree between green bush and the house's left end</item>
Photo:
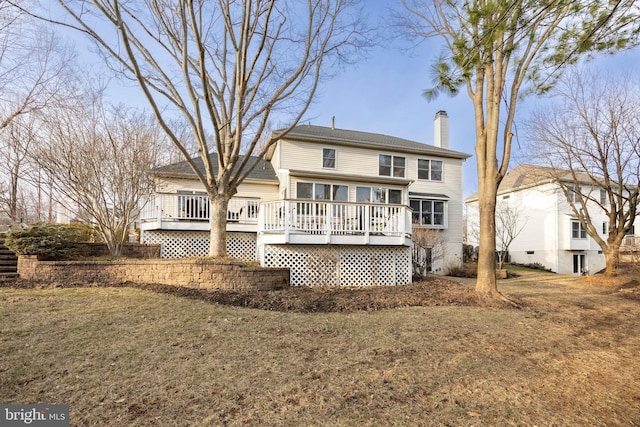
[[[99,97],[50,114],[35,157],[62,204],[95,225],[119,255],[152,189],[148,171],[157,166],[164,133],[151,117],[102,105]]]

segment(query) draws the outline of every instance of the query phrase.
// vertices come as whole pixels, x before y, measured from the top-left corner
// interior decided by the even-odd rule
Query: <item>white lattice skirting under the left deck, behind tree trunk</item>
[[[209,254],[208,231],[150,230],[142,243],[160,244],[161,258],[188,258]],[[255,233],[227,232],[227,254],[245,261],[256,260]]]

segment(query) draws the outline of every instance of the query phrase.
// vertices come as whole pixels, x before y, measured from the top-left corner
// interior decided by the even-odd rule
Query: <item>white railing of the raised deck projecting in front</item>
[[[266,233],[411,234],[406,206],[278,200],[261,204],[258,230]]]

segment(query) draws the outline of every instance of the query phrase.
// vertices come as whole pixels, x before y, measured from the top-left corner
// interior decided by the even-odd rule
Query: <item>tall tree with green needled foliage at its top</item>
[[[480,253],[476,290],[505,299],[498,291],[496,194],[511,157],[513,121],[519,97],[544,91],[564,65],[582,54],[630,46],[638,32],[638,4],[517,0],[402,0],[398,24],[412,37],[439,38],[446,53],[434,67],[435,87],[472,101],[480,209]]]

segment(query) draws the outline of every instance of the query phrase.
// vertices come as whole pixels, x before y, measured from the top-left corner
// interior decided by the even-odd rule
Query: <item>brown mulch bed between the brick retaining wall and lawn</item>
[[[438,277],[401,286],[290,287],[276,291],[223,291],[139,283],[116,285],[100,283],[44,284],[20,279],[2,286],[18,288],[130,287],[217,304],[296,313],[348,313],[415,306],[513,307],[504,302],[487,299],[476,293],[471,286]]]

